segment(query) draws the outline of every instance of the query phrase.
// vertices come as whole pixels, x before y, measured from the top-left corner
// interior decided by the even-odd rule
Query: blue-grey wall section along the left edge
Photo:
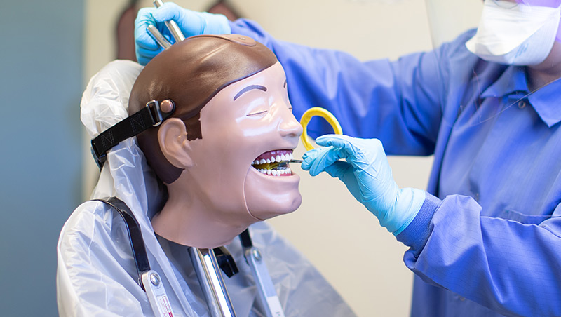
[[[0,1],[1,316],[57,316],[56,243],[83,183],[84,3]]]

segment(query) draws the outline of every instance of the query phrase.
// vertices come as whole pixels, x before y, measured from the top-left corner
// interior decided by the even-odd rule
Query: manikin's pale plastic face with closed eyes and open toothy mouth
[[[302,135],[280,63],[217,93],[201,110],[201,133],[189,141],[193,166],[186,172],[200,184],[196,195],[213,218],[247,226],[299,207],[298,175],[253,165],[273,156],[290,159]]]

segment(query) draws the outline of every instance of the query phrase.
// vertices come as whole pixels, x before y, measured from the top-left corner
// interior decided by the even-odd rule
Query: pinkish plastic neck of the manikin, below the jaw
[[[175,185],[168,185],[168,201],[151,220],[156,234],[168,241],[195,248],[217,248],[229,244],[256,221],[224,221],[215,210],[209,210],[208,203],[198,199],[195,190]]]

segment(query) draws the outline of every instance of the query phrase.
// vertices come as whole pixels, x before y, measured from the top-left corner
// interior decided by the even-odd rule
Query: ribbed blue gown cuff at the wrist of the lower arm
[[[419,213],[417,213],[409,226],[396,236],[398,241],[411,247],[411,249],[418,254],[423,249],[428,240],[428,236],[431,234],[431,220],[441,203],[442,201],[439,198],[426,193],[425,201]]]

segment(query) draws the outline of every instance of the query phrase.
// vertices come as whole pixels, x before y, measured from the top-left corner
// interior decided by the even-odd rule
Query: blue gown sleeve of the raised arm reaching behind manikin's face
[[[297,118],[323,107],[337,117],[344,134],[377,137],[387,154],[433,154],[447,77],[440,52],[361,62],[347,53],[277,41],[250,20],[237,20],[231,29],[276,54]],[[323,121],[314,121],[308,126],[311,136],[332,133]]]

